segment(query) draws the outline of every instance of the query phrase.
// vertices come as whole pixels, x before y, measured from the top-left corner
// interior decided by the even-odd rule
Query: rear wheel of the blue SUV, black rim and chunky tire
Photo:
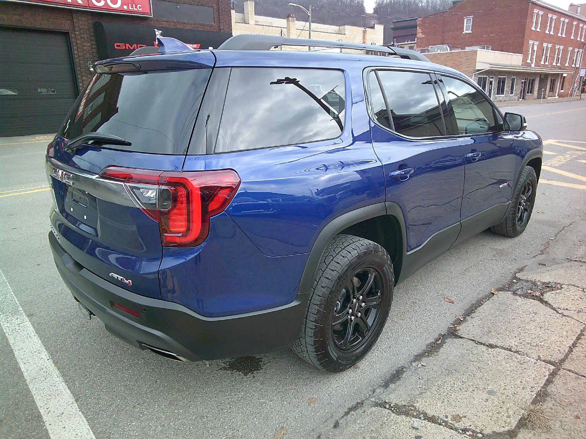
[[[323,252],[293,351],[323,371],[352,367],[379,338],[393,286],[393,264],[384,248],[357,236],[335,236]]]

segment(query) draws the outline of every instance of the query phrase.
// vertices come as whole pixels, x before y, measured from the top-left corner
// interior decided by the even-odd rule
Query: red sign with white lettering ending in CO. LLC
[[[35,5],[58,6],[61,8],[86,9],[87,11],[126,13],[152,16],[151,0],[8,0]]]

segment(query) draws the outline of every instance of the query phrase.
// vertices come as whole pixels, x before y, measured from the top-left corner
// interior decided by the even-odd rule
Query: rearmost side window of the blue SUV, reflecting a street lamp
[[[334,139],[344,109],[339,70],[233,68],[216,152]]]

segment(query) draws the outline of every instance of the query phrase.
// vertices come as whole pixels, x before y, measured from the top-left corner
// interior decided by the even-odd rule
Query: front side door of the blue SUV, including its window
[[[500,115],[481,91],[455,77],[440,78],[448,104],[448,131],[458,136],[464,148],[466,177],[458,239],[466,239],[505,214],[520,157],[514,136],[502,131]]]

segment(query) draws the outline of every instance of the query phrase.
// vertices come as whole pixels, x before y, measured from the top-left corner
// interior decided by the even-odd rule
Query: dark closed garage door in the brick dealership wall
[[[57,132],[77,97],[69,35],[0,28],[0,136]]]

